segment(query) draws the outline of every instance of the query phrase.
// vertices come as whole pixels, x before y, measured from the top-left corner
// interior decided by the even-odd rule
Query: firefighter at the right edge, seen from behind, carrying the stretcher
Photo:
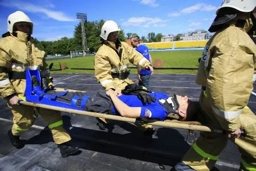
[[[241,152],[240,170],[256,170],[256,116],[247,107],[253,90],[256,46],[246,31],[255,31],[255,0],[225,0],[217,10],[205,46],[196,83],[202,86],[201,115],[224,133],[201,132],[173,170],[210,170],[234,141]],[[241,129],[247,133],[241,136]],[[235,139],[236,138],[236,139]]]

